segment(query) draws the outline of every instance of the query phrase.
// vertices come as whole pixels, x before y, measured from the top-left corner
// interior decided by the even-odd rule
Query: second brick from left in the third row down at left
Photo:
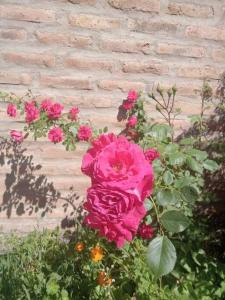
[[[113,63],[104,58],[95,57],[69,57],[65,60],[67,67],[81,70],[108,70],[112,71]]]

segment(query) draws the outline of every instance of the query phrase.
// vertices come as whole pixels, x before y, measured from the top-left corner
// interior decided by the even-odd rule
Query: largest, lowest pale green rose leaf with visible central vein
[[[166,236],[154,238],[147,250],[148,265],[155,277],[170,273],[176,263],[176,249]]]

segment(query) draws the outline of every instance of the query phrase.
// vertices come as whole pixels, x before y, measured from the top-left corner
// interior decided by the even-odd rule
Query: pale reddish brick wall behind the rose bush
[[[82,117],[116,132],[130,88],[176,83],[184,127],[199,110],[202,80],[216,84],[225,69],[225,1],[0,0],[0,66],[1,90],[29,88],[79,105]],[[1,135],[21,127],[5,104],[0,110]],[[85,146],[74,153],[44,140],[23,147],[1,150],[1,230],[70,223],[88,185],[80,172]]]

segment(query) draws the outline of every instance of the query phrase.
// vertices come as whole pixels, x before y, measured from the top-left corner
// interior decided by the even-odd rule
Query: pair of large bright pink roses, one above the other
[[[144,200],[153,188],[151,164],[124,136],[102,134],[85,154],[82,171],[92,181],[84,204],[85,223],[123,247],[146,214]]]

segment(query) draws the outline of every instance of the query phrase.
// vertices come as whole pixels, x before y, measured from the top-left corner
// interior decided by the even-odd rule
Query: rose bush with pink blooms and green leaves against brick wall
[[[11,100],[9,116],[25,111],[25,134],[13,133],[14,141],[21,142],[33,133],[35,139],[48,136],[53,143],[62,142],[67,150],[75,149],[79,141],[90,143],[81,169],[91,178],[91,187],[84,203],[85,225],[76,232],[75,251],[77,263],[83,268],[79,276],[84,280],[90,272],[88,251],[91,257],[95,255],[92,262],[97,265],[88,280],[95,278],[95,282],[102,283],[104,293],[108,293],[105,299],[149,295],[148,289],[139,294],[133,283],[142,278],[146,286],[152,276],[161,285],[162,277],[175,267],[175,246],[181,248],[183,231],[193,222],[195,202],[204,198],[203,173],[218,168],[205,151],[196,147],[198,141],[194,138],[176,140],[174,120],[180,110],[174,108],[175,96],[175,87],[167,91],[158,87],[147,100],[142,93],[130,91],[120,107],[127,124],[118,136],[81,122],[76,107],[64,112],[62,105],[49,99],[41,104],[33,99],[24,104],[15,97],[4,96]],[[156,104],[166,124],[148,120],[145,105],[149,101]],[[134,270],[129,271],[132,263]],[[129,293],[119,288],[123,279],[117,274],[118,265],[123,265],[122,275],[132,287]],[[143,270],[152,275],[145,277]],[[126,274],[131,274],[132,279]],[[114,278],[118,282],[114,283]],[[109,279],[110,284],[106,284]]]

